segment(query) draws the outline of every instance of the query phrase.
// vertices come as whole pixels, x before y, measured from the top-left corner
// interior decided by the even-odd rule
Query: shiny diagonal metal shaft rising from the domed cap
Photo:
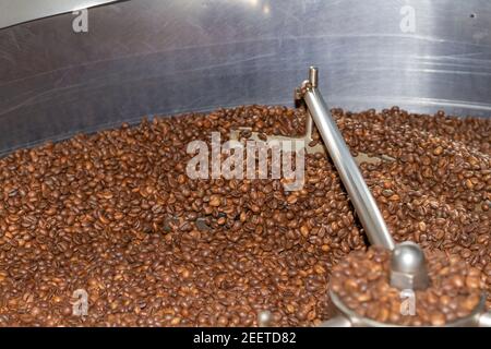
[[[310,86],[303,96],[309,112],[315,122],[324,141],[325,147],[336,166],[339,177],[348,191],[349,197],[360,218],[361,225],[371,244],[394,249],[394,240],[388,232],[376,202],[370,193],[361,172],[346,145],[339,129],[334,121],[321,93],[316,88],[319,73],[316,68],[310,68]]]

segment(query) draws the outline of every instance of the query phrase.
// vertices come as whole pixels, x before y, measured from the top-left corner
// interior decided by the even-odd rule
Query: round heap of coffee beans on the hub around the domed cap
[[[426,256],[430,286],[414,294],[391,287],[391,252],[383,248],[349,254],[334,267],[331,289],[360,316],[385,324],[444,326],[470,315],[481,300],[483,273],[442,251]],[[402,311],[404,301],[414,303]]]

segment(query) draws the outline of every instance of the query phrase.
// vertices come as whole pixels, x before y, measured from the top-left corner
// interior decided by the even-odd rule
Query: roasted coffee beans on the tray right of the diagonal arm
[[[351,149],[384,159],[361,168],[395,240],[459,255],[488,275],[491,294],[490,119],[337,115]]]

